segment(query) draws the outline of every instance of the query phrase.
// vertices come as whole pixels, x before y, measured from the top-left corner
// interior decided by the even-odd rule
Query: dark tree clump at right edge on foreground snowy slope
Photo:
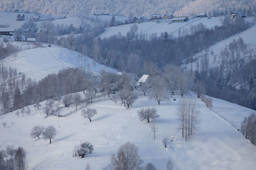
[[[241,122],[241,133],[246,139],[249,139],[253,145],[256,145],[256,116],[251,113]]]

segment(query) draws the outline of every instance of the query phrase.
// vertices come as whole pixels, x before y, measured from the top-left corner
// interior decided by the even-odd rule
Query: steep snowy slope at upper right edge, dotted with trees
[[[234,36],[231,36],[230,38],[224,39],[223,41],[220,41],[212,46],[210,46],[207,50],[210,52],[209,53],[209,67],[218,67],[221,64],[221,60],[223,59],[223,57],[221,57],[220,53],[221,50],[225,49],[225,46],[228,46],[228,44],[230,42],[232,42],[234,39],[238,39],[238,38],[243,38],[244,43],[246,43],[247,45],[247,50],[245,52],[244,55],[242,55],[241,57],[243,57],[243,59],[245,61],[248,61],[250,54],[252,54],[252,57],[254,57],[254,59],[256,58],[256,24],[253,25],[252,27],[246,29],[243,32],[240,32],[239,34],[235,34]],[[213,52],[213,55],[211,54],[211,51]],[[198,59],[199,60],[199,64],[200,64],[200,60],[202,59],[201,56],[203,56],[205,53],[205,50],[199,53],[196,53],[193,56],[193,59]],[[251,59],[250,59],[251,60]],[[192,66],[193,69],[196,69],[196,60],[195,62],[189,63],[189,64],[184,64],[182,67],[188,67],[190,68]]]

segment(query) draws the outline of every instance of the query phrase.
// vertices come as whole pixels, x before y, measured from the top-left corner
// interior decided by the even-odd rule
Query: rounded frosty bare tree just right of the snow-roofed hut
[[[166,90],[166,83],[161,76],[153,76],[149,80],[150,83],[150,98],[157,101],[160,104],[164,99],[168,99],[168,93]]]

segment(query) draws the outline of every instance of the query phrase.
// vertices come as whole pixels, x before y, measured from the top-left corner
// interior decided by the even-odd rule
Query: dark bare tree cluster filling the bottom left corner
[[[6,150],[0,150],[0,169],[25,170],[28,168],[26,152],[22,147],[7,146]]]

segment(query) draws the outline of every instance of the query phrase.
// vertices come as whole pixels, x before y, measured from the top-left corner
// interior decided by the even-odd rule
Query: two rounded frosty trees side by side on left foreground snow
[[[56,136],[56,129],[52,125],[49,125],[44,128],[44,126],[36,125],[31,130],[30,136],[31,138],[38,138],[42,135],[44,139],[49,139],[50,144],[52,143],[52,139]]]

